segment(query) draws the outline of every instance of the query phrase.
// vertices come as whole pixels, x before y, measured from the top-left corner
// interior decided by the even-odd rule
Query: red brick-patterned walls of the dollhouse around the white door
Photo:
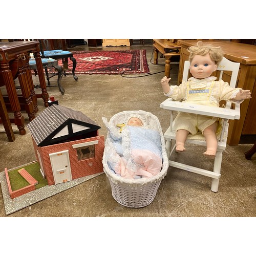
[[[95,140],[98,140],[98,144],[95,144],[95,157],[78,161],[76,148],[73,148],[72,145],[95,141]],[[40,153],[41,161],[42,161],[44,172],[48,181],[48,185],[55,184],[51,160],[49,156],[49,154],[51,153],[57,153],[65,150],[69,151],[69,160],[70,160],[71,174],[72,174],[73,180],[84,177],[84,176],[103,172],[102,157],[103,157],[103,151],[104,151],[104,136],[97,136],[97,137],[59,143],[59,144],[54,144],[49,146],[42,146],[42,147],[38,147],[35,144],[34,140],[33,140],[33,144],[35,147],[35,152],[36,152],[36,149],[38,149],[38,152]],[[36,154],[36,157],[37,157],[37,154]]]

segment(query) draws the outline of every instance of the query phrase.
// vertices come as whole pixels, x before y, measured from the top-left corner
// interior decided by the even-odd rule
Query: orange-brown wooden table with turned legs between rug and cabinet
[[[170,58],[180,56],[180,45],[170,42],[167,39],[153,39],[154,46],[154,64],[158,63],[158,52],[162,53],[165,58],[165,76],[170,77]]]

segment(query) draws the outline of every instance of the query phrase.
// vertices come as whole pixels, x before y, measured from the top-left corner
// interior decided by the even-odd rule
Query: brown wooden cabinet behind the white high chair
[[[181,55],[179,65],[178,84],[182,82],[184,61],[188,60],[187,48],[196,45],[198,40],[181,40]],[[244,100],[240,105],[240,119],[229,121],[228,145],[238,145],[241,135],[256,135],[256,46],[239,42],[222,40],[202,40],[208,44],[220,46],[227,59],[239,62],[237,87],[250,90],[252,98]],[[249,143],[254,143],[250,141]]]

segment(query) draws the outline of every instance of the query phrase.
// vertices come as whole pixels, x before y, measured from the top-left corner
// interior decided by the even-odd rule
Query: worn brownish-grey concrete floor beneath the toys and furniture
[[[164,59],[159,64],[153,62],[153,46],[97,47],[76,46],[77,50],[121,50],[146,49],[151,75],[136,75],[132,78],[120,75],[72,75],[62,77],[66,92],[61,95],[56,87],[56,77],[48,87],[49,96],[54,96],[59,104],[79,110],[101,126],[100,135],[106,136],[106,128],[101,117],[110,119],[124,110],[144,110],[159,118],[163,132],[169,123],[169,113],[160,108],[166,99],[162,93],[160,80],[164,76]],[[172,65],[171,84],[177,83],[178,64]],[[159,73],[161,72],[161,73]],[[36,78],[34,78],[36,83]],[[4,89],[1,89],[4,90]],[[36,89],[40,90],[40,89]],[[36,91],[39,92],[39,91]],[[39,112],[45,109],[38,98]],[[26,124],[28,117],[24,113]],[[20,136],[13,126],[15,141],[9,142],[0,126],[0,171],[4,168],[35,161],[29,130]],[[118,204],[111,194],[111,186],[105,174],[40,201],[11,215],[6,216],[2,193],[0,193],[0,217],[256,217],[256,155],[246,160],[244,152],[252,144],[227,146],[223,154],[222,172],[218,193],[210,190],[211,180],[184,170],[170,168],[162,180],[154,201],[144,208],[127,208]],[[202,157],[204,148],[187,146],[187,151],[179,155],[181,159],[192,159],[199,165],[210,166],[211,160]],[[195,151],[198,156],[192,157]],[[200,167],[200,166],[199,166]]]

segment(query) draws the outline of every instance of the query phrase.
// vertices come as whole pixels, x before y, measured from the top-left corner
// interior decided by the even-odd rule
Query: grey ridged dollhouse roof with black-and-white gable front
[[[37,146],[46,146],[100,129],[80,111],[53,104],[28,123]]]

